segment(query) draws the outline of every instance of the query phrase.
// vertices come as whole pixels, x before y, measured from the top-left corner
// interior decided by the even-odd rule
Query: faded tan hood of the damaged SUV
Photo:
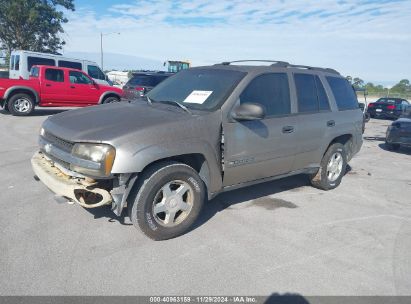
[[[72,142],[115,143],[136,132],[184,128],[197,118],[172,105],[119,102],[56,114],[43,128]]]

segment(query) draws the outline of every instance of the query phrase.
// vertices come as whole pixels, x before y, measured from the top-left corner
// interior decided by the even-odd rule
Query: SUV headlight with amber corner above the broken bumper
[[[75,144],[71,154],[86,161],[81,166],[71,164],[71,170],[85,175],[105,177],[111,173],[116,150],[106,144]],[[87,165],[88,163],[90,165]]]

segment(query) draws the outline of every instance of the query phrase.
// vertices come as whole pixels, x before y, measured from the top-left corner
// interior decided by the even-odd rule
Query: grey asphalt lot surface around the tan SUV
[[[411,295],[411,149],[371,120],[340,187],[304,176],[224,193],[154,242],[109,208],[57,203],[30,158],[48,114],[0,111],[1,295]]]

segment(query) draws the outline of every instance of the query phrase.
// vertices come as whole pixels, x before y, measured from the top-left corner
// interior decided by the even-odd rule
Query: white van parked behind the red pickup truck
[[[97,63],[93,61],[22,50],[11,52],[9,78],[19,79],[21,77],[29,79],[30,69],[33,65],[51,65],[82,70],[97,83],[110,85],[106,75],[101,71]]]

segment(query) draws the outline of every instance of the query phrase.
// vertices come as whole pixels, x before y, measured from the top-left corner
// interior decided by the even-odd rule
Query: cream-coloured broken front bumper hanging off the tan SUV
[[[78,203],[84,208],[96,208],[113,202],[110,192],[98,188],[96,181],[63,173],[41,152],[34,154],[31,165],[36,176],[51,191]]]

